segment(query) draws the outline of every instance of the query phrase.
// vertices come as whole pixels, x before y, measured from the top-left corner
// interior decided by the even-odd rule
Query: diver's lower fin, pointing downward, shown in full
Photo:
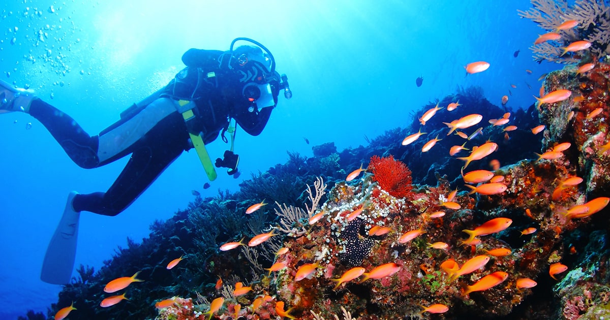
[[[51,242],[46,249],[45,260],[42,263],[40,280],[54,285],[70,283],[74,258],[76,257],[76,240],[78,238],[78,225],[80,212],[74,211],[72,202],[78,193],[71,191],[68,202],[63,210],[62,219],[53,233]]]

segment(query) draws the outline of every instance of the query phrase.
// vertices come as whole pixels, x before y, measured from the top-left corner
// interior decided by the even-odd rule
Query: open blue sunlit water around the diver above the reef
[[[220,171],[203,190],[206,176],[190,152],[120,215],[83,213],[76,266],[96,269],[127,237],[141,241],[153,221],[187,207],[191,190],[204,197],[237,191],[251,172],[284,163],[287,151],[311,156],[312,145],[329,141],[339,150],[366,144],[365,137],[406,126],[413,110],[458,86],[480,86],[498,105],[511,90],[508,106],[528,107],[540,74],[561,68],[533,62],[528,47],[542,30],[517,15],[530,7],[525,0],[4,2],[0,76],[34,88],[91,134],[167,84],[189,48],[226,50],[236,37],[254,38],[289,77],[294,98],[280,98],[264,132],[237,133],[239,179]],[[463,66],[479,60],[490,68],[465,77]],[[68,192],[106,191],[127,158],[81,169],[45,127],[21,113],[0,115],[0,137],[0,319],[15,319],[27,309],[46,313],[57,300],[61,287],[39,276]],[[226,148],[218,139],[209,151],[215,158]]]

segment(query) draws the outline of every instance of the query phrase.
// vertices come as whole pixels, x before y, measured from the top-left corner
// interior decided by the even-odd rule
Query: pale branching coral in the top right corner
[[[546,32],[558,32],[561,38],[557,41],[546,41],[530,49],[534,60],[554,61],[559,63],[580,62],[581,53],[562,55],[562,48],[574,41],[586,40],[591,43],[589,49],[592,59],[600,60],[610,55],[610,7],[605,0],[576,0],[569,5],[567,0],[530,0],[533,8],[517,10],[523,18],[537,23]],[[557,30],[557,27],[568,20],[578,21],[578,26]]]

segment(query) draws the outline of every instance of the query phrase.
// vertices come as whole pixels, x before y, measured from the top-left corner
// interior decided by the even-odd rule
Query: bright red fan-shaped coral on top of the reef
[[[406,197],[413,189],[411,170],[403,162],[394,160],[394,157],[371,157],[368,171],[373,173],[373,181],[394,197]]]

